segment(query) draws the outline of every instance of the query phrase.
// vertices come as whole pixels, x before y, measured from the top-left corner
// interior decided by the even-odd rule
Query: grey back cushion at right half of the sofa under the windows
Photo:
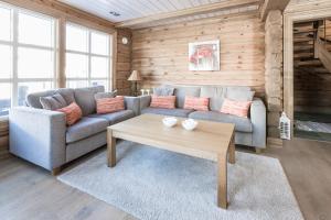
[[[93,114],[96,112],[96,101],[94,96],[97,92],[104,92],[104,86],[77,88],[75,89],[75,100],[77,105],[82,108],[83,116]]]

